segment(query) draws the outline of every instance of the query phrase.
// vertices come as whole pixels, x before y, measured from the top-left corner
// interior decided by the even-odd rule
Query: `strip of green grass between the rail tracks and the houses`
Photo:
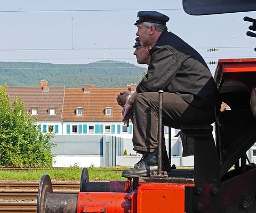
[[[90,181],[118,181],[125,180],[121,177],[122,170],[130,167],[89,167]],[[38,168],[24,171],[0,170],[0,180],[15,181],[39,181],[42,175],[47,174],[53,181],[80,181],[82,169],[80,167],[69,168]],[[118,172],[114,170],[120,170]]]

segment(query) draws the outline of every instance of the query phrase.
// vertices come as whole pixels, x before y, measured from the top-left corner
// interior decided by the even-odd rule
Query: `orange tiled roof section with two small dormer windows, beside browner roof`
[[[63,105],[63,121],[122,121],[121,106],[116,102],[117,94],[129,92],[128,88],[66,88]],[[83,108],[83,116],[76,115],[76,108]],[[105,109],[112,108],[112,116],[105,115]]]

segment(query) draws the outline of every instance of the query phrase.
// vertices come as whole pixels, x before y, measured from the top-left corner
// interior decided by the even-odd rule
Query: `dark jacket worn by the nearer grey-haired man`
[[[218,91],[202,56],[181,38],[167,30],[149,52],[151,61],[137,92],[177,93],[199,108],[219,104]]]

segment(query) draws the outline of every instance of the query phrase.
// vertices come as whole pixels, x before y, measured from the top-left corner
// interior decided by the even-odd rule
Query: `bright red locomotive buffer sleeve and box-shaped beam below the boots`
[[[131,193],[79,192],[77,213],[184,213],[185,187],[194,184],[139,183]]]

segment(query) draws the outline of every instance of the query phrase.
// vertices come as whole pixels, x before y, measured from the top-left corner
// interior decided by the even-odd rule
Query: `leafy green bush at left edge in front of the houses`
[[[54,134],[37,129],[36,118],[26,112],[18,97],[10,105],[6,89],[0,85],[0,165],[52,166]]]

